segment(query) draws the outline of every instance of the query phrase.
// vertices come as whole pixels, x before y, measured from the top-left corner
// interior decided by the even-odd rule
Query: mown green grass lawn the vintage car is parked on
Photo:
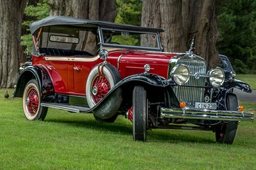
[[[11,90],[9,90],[11,91]],[[132,123],[98,123],[88,114],[49,109],[23,116],[21,98],[0,90],[0,169],[256,169],[256,122],[242,122],[233,145],[209,131],[149,130],[132,140]],[[243,103],[256,111],[256,103]]]

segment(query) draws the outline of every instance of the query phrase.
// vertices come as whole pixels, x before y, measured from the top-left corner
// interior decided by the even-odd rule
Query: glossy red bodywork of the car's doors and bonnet
[[[178,54],[164,52],[146,52],[142,50],[114,50],[109,52],[107,62],[114,67],[118,67],[122,79],[132,74],[144,73],[144,65],[149,64],[149,73],[157,74],[161,77],[168,77],[169,61]],[[51,56],[47,56],[50,58]],[[42,64],[48,70],[53,81],[55,93],[85,96],[85,85],[87,77],[93,67],[103,62],[97,59],[93,62],[80,62],[74,56],[52,56],[61,57],[65,61],[46,61],[46,57],[33,56],[33,65]],[[86,57],[85,57],[86,58]],[[90,58],[90,57],[87,57]],[[119,61],[119,64],[118,64]],[[76,67],[77,69],[74,69]],[[103,87],[102,87],[103,88]],[[102,93],[105,90],[102,90]],[[100,97],[98,97],[100,98]],[[95,101],[99,99],[95,98]]]

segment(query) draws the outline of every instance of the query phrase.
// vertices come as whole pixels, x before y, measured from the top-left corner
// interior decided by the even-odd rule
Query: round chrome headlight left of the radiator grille
[[[178,85],[186,84],[189,79],[189,69],[186,65],[178,64],[171,69],[171,77]]]

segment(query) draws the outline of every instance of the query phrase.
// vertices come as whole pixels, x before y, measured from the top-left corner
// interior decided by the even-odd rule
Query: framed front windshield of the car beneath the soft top
[[[106,47],[161,51],[159,33],[102,28],[102,42]]]

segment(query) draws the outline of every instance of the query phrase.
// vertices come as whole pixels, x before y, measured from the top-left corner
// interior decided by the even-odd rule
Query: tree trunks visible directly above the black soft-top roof
[[[115,0],[49,0],[51,16],[73,16],[114,22]]]

